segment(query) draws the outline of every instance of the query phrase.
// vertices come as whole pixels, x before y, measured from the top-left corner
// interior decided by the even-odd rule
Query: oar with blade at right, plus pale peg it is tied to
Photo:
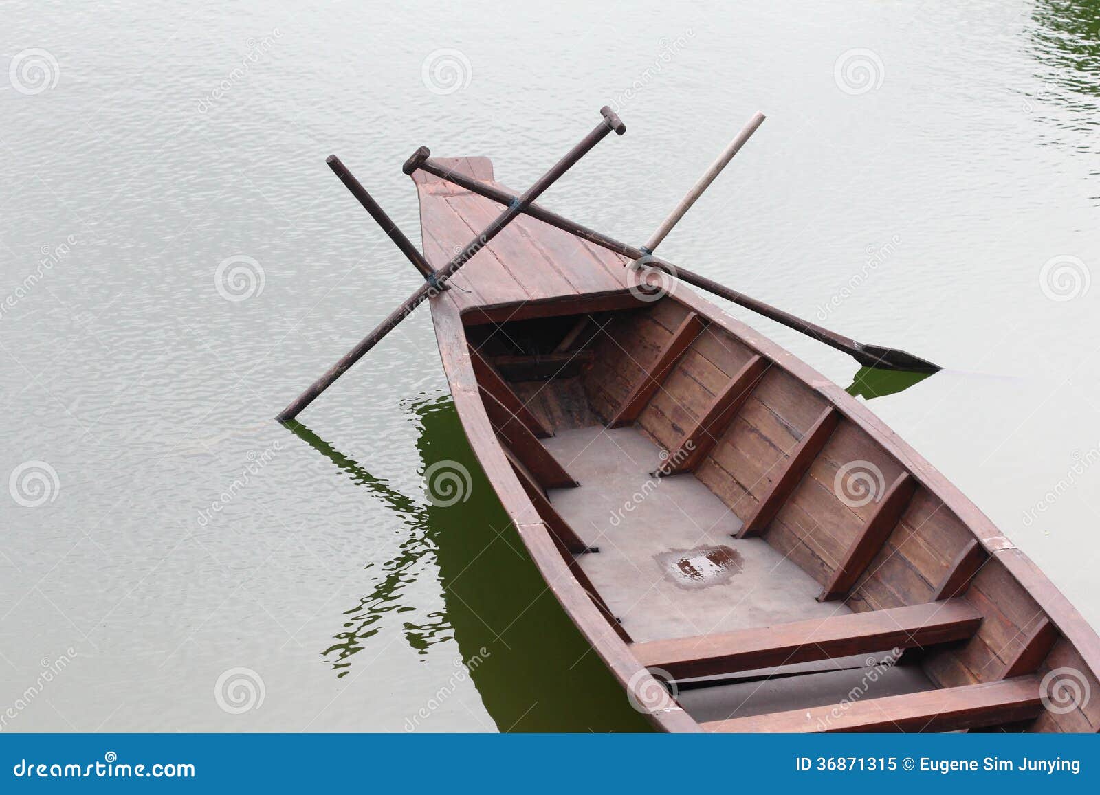
[[[661,242],[661,240],[664,239],[664,235],[668,234],[672,225],[683,218],[688,208],[690,208],[691,205],[695,202],[695,199],[698,198],[698,194],[701,194],[702,190],[706,189],[706,187],[714,181],[714,178],[718,175],[718,173],[721,173],[722,168],[725,167],[725,164],[728,163],[735,154],[737,154],[737,150],[744,145],[745,141],[747,141],[748,137],[756,131],[761,121],[763,121],[762,114],[758,113],[752,118],[745,130],[743,130],[741,133],[734,139],[729,146],[726,147],[723,156],[715,161],[714,165],[707,169],[703,179],[701,179],[696,186],[702,186],[701,189],[697,192],[695,189],[689,191],[684,201],[681,201],[680,205],[676,206],[676,210],[674,210],[669,217],[672,223],[670,224],[669,220],[666,220],[666,222],[661,224],[658,232],[654,233],[654,235],[647,243],[647,246],[656,246]],[[715,168],[715,166],[718,167]],[[441,163],[432,159],[431,153],[426,146],[418,148],[413,156],[405,162],[403,170],[406,174],[413,174],[418,168],[424,169],[429,174],[435,174],[437,177],[442,179],[447,179],[448,181],[465,188],[471,192],[484,196],[486,199],[492,199],[497,203],[510,205],[516,201],[516,197],[508,191],[501,190],[492,185],[486,185],[485,183],[468,177],[464,174],[453,172]],[[590,229],[578,223],[576,221],[571,221],[568,218],[559,216],[558,213],[541,207],[540,205],[532,203],[525,210],[525,212],[531,218],[549,223],[551,227],[557,227],[560,230],[569,232],[570,234],[575,234],[578,238],[583,238],[584,240],[595,243],[596,245],[607,249],[608,251],[613,251],[616,254],[629,257],[636,263],[640,260],[642,261],[642,264],[654,265],[662,270],[670,273],[676,279],[686,281],[688,284],[694,285],[695,287],[704,289],[707,292],[712,292],[716,296],[725,298],[728,301],[733,301],[738,306],[750,309],[758,314],[762,314],[770,320],[774,320],[777,323],[782,323],[790,329],[794,329],[795,331],[817,340],[818,342],[823,342],[826,345],[835,347],[838,351],[844,351],[867,367],[904,369],[916,373],[935,373],[941,369],[939,365],[933,364],[932,362],[921,358],[920,356],[914,356],[905,351],[857,342],[850,336],[845,336],[844,334],[838,334],[835,331],[829,331],[828,329],[817,325],[809,320],[791,314],[782,309],[777,309],[776,307],[765,303],[763,301],[752,298],[751,296],[747,296],[744,292],[738,292],[737,290],[730,289],[725,285],[713,281],[712,279],[693,273],[688,268],[682,268],[666,260],[652,256],[651,252],[646,251],[644,247],[639,249],[638,246],[623,243],[604,234],[603,232],[597,232],[594,229]]]

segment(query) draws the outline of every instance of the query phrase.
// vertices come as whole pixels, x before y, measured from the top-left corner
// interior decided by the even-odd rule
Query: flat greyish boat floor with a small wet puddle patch
[[[660,449],[637,428],[578,428],[542,440],[581,484],[550,500],[583,541],[581,566],[636,641],[850,612],[740,520],[694,475],[650,477]]]

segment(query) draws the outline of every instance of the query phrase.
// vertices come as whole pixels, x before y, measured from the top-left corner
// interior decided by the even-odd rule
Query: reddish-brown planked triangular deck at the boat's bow
[[[521,192],[494,180],[493,164],[487,157],[437,159],[502,190]],[[446,264],[458,253],[457,245],[473,240],[505,209],[426,172],[417,172],[413,180],[420,197],[424,253],[435,267]],[[454,284],[469,292],[452,290],[452,297],[463,311],[472,307],[623,290],[629,286],[625,263],[626,260],[617,254],[524,216],[463,266]]]

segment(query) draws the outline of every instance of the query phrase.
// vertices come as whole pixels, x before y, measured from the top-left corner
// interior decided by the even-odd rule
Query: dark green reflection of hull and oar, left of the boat
[[[464,499],[430,504],[375,477],[301,423],[290,429],[407,526],[407,538],[374,589],[343,611],[343,629],[322,652],[338,676],[383,629],[400,623],[421,654],[453,656],[450,641],[501,731],[649,731],[535,568],[466,441],[450,396],[408,405],[420,426],[424,471],[469,473]],[[450,494],[450,493],[448,493]],[[424,616],[407,586],[438,577],[443,609]],[[420,615],[420,620],[414,616]],[[485,651],[483,651],[483,649]],[[486,653],[487,651],[487,653]]]

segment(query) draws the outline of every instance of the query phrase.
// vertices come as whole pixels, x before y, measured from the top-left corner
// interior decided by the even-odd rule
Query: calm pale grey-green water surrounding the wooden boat
[[[1097,2],[3,18],[0,475],[48,468],[41,505],[0,499],[0,708],[67,661],[4,728],[644,727],[470,457],[426,311],[305,426],[271,420],[417,284],[327,155],[418,240],[418,145],[522,188],[606,102],[627,134],[546,203],[642,241],[763,110],[662,253],[944,364],[877,379],[727,307],[1100,625]],[[469,501],[426,499],[438,461],[468,462]]]

